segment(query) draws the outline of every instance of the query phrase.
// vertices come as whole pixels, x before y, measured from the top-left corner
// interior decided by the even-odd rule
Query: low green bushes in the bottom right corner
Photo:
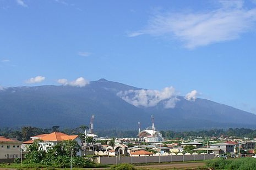
[[[256,159],[252,157],[224,159],[215,158],[206,161],[206,168],[211,169],[255,169]]]

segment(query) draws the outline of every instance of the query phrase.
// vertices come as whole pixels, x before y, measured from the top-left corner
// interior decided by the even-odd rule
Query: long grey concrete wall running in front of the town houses
[[[151,163],[151,162],[181,162],[181,161],[198,161],[210,160],[214,154],[201,155],[170,155],[170,156],[140,156],[140,157],[99,157],[97,163],[113,165],[119,163]]]

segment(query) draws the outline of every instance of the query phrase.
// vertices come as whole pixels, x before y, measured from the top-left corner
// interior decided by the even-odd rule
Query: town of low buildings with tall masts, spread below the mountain
[[[137,138],[98,137],[94,133],[94,115],[90,126],[82,136],[68,135],[62,132],[51,132],[31,136],[30,140],[18,141],[0,137],[0,162],[21,161],[26,158],[28,149],[35,142],[42,150],[50,150],[61,141],[72,140],[79,146],[76,156],[89,158],[101,165],[119,163],[150,163],[210,160],[215,157],[238,158],[255,157],[255,139],[233,137],[211,137],[204,139],[165,139],[157,131],[154,117],[151,116],[151,126],[143,130],[138,122]],[[91,156],[94,156],[91,158]]]

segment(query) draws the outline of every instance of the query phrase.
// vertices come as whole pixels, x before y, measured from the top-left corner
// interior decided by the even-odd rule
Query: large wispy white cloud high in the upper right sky
[[[170,36],[189,49],[237,39],[255,26],[256,8],[243,8],[243,1],[218,1],[219,9],[195,13],[160,13],[149,19],[139,35]]]

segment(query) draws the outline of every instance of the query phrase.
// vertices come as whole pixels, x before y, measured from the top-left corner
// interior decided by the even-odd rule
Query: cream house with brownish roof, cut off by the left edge
[[[5,158],[20,158],[21,141],[8,139],[0,136],[0,159]]]

